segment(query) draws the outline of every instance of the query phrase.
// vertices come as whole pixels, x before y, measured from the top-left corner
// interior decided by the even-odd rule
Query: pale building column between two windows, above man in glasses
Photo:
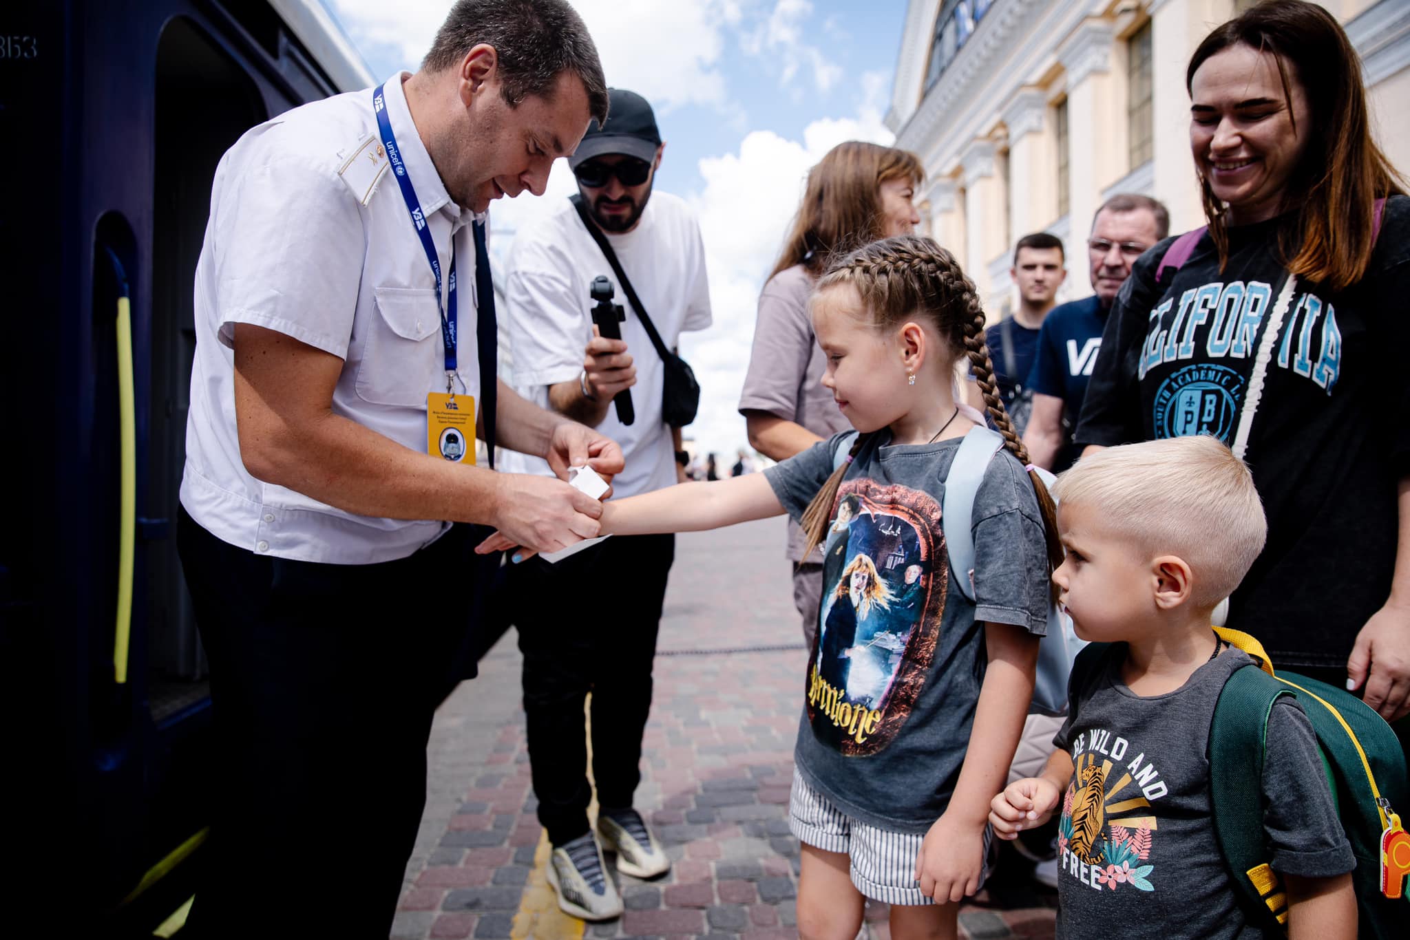
[[[1087,237],[1101,190],[1125,175],[1125,96],[1111,75],[1111,24],[1087,20],[1058,48],[1066,72],[1072,234]]]

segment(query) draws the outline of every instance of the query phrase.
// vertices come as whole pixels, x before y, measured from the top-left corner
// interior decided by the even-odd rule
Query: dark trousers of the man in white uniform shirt
[[[323,565],[235,548],[180,513],[216,737],[192,934],[385,940],[431,715],[468,645],[472,538],[457,526],[409,558]]]

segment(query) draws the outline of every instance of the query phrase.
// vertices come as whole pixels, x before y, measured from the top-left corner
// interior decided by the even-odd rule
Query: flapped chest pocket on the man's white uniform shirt
[[[420,407],[444,389],[446,347],[440,304],[427,287],[374,289],[375,316],[357,372],[358,397],[376,404]]]

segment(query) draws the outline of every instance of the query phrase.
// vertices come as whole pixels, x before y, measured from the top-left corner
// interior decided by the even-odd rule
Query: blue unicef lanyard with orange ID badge
[[[376,86],[372,92],[372,111],[376,114],[376,127],[382,134],[382,145],[386,156],[392,161],[392,171],[396,173],[396,185],[402,190],[402,200],[406,211],[416,225],[416,235],[422,240],[426,251],[426,261],[436,275],[436,306],[440,310],[441,344],[446,347],[446,393],[431,392],[426,396],[426,450],[431,455],[444,457],[448,461],[475,462],[475,399],[471,395],[465,404],[455,400],[455,241],[450,245],[450,278],[441,283],[440,256],[436,254],[436,244],[431,241],[430,223],[422,211],[422,204],[416,199],[416,187],[412,176],[402,162],[402,152],[396,147],[396,134],[392,132],[392,121],[386,114],[386,101],[382,89]],[[444,303],[443,303],[444,300]],[[464,386],[461,386],[464,388]]]

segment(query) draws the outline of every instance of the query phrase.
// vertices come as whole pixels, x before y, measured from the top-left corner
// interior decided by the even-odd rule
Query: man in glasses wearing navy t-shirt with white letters
[[[1076,462],[1072,428],[1077,426],[1081,399],[1087,395],[1107,313],[1131,276],[1131,264],[1165,238],[1169,228],[1170,214],[1165,206],[1135,193],[1112,196],[1093,217],[1087,262],[1096,293],[1048,314],[1028,373],[1034,407],[1024,445],[1038,466],[1062,472]]]

